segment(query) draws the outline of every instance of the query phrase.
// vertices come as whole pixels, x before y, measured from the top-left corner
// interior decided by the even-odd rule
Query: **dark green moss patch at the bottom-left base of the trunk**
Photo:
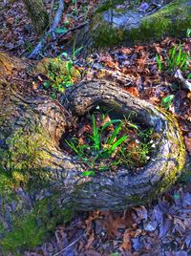
[[[51,206],[50,206],[51,205]],[[50,207],[51,210],[50,211]],[[54,197],[36,203],[35,208],[27,216],[17,216],[13,230],[1,239],[5,253],[20,252],[36,245],[41,245],[52,234],[56,224],[66,223],[73,218],[71,205],[64,210],[59,208]],[[22,253],[20,254],[22,255]]]

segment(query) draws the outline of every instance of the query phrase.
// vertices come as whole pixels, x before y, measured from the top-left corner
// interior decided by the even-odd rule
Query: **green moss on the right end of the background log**
[[[126,32],[134,42],[147,42],[148,39],[159,39],[162,36],[184,36],[191,26],[191,6],[185,6],[184,0],[174,1],[160,11],[142,19],[138,29]]]

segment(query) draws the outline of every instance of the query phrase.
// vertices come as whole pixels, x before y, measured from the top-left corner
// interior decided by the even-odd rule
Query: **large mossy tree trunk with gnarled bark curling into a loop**
[[[73,118],[97,104],[154,129],[157,151],[132,173],[126,168],[83,177],[83,164],[62,152],[59,141]],[[0,84],[0,251],[22,254],[40,245],[74,210],[146,203],[176,181],[184,146],[175,118],[107,81],[72,87],[63,102],[6,82]]]

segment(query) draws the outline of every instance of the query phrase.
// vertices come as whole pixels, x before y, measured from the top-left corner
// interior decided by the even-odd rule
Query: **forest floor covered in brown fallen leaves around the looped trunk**
[[[21,1],[0,4],[0,50],[19,57],[30,53],[39,40]],[[87,21],[95,1],[65,1],[67,9],[62,20],[63,30],[77,27]],[[149,1],[145,1],[149,2]],[[7,5],[6,5],[7,3]],[[47,1],[53,12],[52,1]],[[55,7],[56,8],[56,7]],[[64,29],[63,29],[64,28]],[[64,48],[73,36],[68,32],[58,43],[47,49],[55,57],[67,51]],[[77,213],[70,224],[60,224],[44,244],[25,255],[191,255],[191,93],[167,71],[166,59],[175,45],[185,53],[191,52],[191,39],[164,38],[160,42],[132,48],[83,53],[74,56],[74,67],[80,72],[79,80],[105,78],[116,81],[125,91],[166,108],[179,121],[187,151],[187,172],[155,202],[129,208],[123,212],[93,211]],[[156,55],[162,64],[156,61]],[[184,77],[190,74],[190,66]],[[190,77],[189,77],[190,78]],[[14,74],[14,81],[25,83],[26,75]],[[28,83],[29,83],[29,77]],[[32,88],[42,88],[42,77],[30,76]],[[169,97],[170,96],[170,97]]]

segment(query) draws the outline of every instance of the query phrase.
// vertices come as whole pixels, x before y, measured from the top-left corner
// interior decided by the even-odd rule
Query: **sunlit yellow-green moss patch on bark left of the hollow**
[[[0,168],[9,171],[16,183],[23,181],[24,176],[26,179],[30,170],[42,171],[43,162],[49,160],[49,155],[44,150],[48,146],[47,141],[46,135],[40,131],[36,131],[35,135],[16,131],[11,138],[6,139],[8,148],[0,149]]]

